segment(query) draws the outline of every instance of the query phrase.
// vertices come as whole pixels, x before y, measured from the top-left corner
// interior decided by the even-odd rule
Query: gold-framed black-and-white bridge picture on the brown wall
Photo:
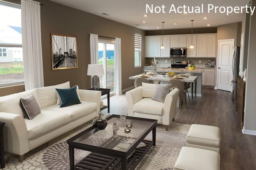
[[[52,70],[78,68],[77,38],[50,33]]]

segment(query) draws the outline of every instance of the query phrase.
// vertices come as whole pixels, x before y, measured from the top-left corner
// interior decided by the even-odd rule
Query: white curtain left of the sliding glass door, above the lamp
[[[90,34],[91,64],[98,64],[98,35]]]

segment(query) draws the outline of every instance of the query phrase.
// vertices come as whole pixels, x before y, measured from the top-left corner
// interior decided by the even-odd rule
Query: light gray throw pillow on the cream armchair
[[[152,100],[164,103],[165,97],[170,91],[172,84],[156,84],[156,90]]]

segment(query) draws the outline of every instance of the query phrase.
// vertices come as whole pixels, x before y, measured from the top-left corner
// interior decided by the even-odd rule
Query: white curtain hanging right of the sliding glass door
[[[116,38],[115,45],[115,85],[116,95],[122,94],[122,65],[121,65],[121,39]]]

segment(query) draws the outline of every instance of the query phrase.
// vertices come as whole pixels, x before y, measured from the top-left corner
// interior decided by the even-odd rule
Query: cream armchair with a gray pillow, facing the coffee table
[[[126,100],[128,104],[128,116],[156,119],[158,124],[168,125],[176,115],[176,103],[179,90],[173,89],[167,94],[164,103],[151,100],[155,92],[155,84],[150,88],[139,86],[126,92]]]

